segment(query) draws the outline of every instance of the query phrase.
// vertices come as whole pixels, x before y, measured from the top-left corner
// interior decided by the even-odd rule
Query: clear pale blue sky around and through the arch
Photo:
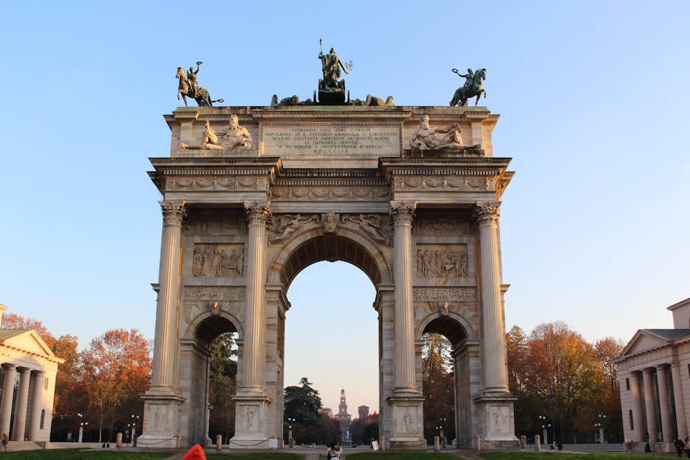
[[[353,61],[353,98],[446,106],[451,68],[487,69],[494,153],[517,172],[507,329],[671,328],[665,308],[690,297],[689,17],[687,1],[3,1],[0,303],[82,347],[112,328],[152,339],[161,196],[146,172],[169,154],[175,70],[204,61],[199,84],[228,106],[306,99],[322,38]],[[286,385],[377,410],[373,292],[344,263],[299,274]]]

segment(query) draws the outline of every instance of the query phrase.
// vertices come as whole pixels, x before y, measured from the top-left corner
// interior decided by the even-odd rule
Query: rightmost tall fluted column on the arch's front
[[[509,393],[505,326],[498,249],[500,203],[477,203],[482,270],[482,369],[484,394]]]

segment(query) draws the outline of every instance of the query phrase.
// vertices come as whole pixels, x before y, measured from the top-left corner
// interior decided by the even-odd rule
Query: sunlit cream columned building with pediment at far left
[[[0,322],[6,306],[0,305]],[[65,362],[32,329],[0,329],[0,435],[50,441],[57,366]]]

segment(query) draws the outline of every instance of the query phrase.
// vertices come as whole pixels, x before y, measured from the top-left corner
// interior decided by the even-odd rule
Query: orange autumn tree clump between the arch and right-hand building
[[[542,434],[542,416],[552,424],[549,437],[555,433],[558,441],[586,441],[598,414],[607,415],[607,432],[622,432],[618,377],[611,363],[620,348],[613,339],[592,345],[562,321],[542,323],[529,336],[513,327],[506,339],[509,385],[517,396],[516,434]]]

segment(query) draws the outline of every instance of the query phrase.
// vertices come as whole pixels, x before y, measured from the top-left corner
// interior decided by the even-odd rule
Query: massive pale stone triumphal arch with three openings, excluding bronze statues
[[[282,445],[287,292],[319,261],[351,263],[375,286],[387,448],[426,445],[425,332],[453,344],[457,442],[512,443],[499,212],[513,173],[494,156],[498,116],[371,97],[298,102],[165,117],[170,154],[150,159],[163,233],[140,445],[210,441],[208,347],[228,331],[239,337],[229,441]]]

